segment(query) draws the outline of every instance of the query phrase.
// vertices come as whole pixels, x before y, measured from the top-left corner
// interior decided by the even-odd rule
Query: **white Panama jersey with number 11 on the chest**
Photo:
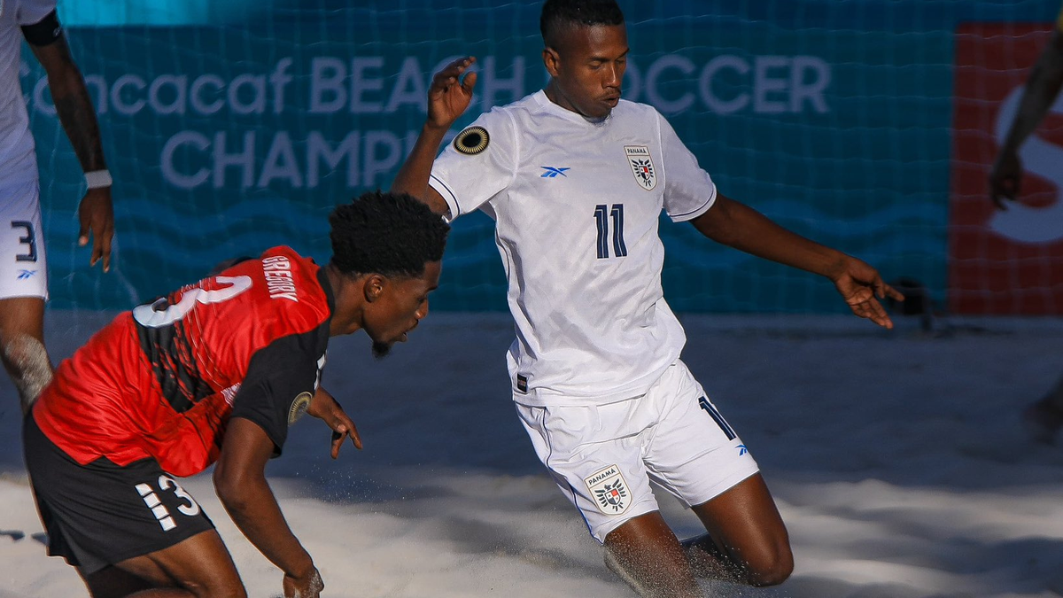
[[[709,175],[652,106],[593,122],[535,93],[455,137],[429,184],[452,217],[484,210],[509,279],[518,402],[602,404],[645,393],[686,343],[664,302],[661,210],[695,218]]]

